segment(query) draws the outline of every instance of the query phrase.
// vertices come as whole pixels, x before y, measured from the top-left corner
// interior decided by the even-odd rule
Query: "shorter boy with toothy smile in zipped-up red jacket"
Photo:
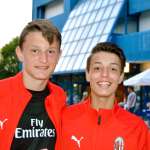
[[[126,58],[111,42],[98,43],[87,59],[90,94],[62,115],[63,150],[148,150],[148,128],[117,104]]]

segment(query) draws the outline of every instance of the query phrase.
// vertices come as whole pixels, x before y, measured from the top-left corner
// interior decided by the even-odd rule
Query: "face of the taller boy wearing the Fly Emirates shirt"
[[[35,80],[48,80],[60,56],[60,45],[56,40],[50,45],[41,32],[29,33],[22,49],[16,49],[23,64],[24,77]]]

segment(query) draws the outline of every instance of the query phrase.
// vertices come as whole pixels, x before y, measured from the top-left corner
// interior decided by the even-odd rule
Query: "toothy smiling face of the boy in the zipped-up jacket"
[[[90,82],[91,96],[114,99],[118,84],[123,80],[119,57],[108,52],[95,53],[86,79]]]

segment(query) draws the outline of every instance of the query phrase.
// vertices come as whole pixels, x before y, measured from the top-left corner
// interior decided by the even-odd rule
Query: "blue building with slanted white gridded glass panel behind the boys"
[[[32,19],[38,18],[51,20],[62,33],[62,57],[53,80],[66,90],[70,104],[89,90],[86,59],[97,42],[112,41],[124,50],[126,78],[150,68],[148,0],[33,0]],[[145,110],[150,88],[136,89]]]

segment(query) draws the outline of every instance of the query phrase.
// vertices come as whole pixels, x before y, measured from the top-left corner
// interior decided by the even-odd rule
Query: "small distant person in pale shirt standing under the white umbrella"
[[[128,96],[127,96],[127,110],[134,113],[135,105],[136,105],[136,93],[134,92],[134,88],[132,86],[127,87]]]

